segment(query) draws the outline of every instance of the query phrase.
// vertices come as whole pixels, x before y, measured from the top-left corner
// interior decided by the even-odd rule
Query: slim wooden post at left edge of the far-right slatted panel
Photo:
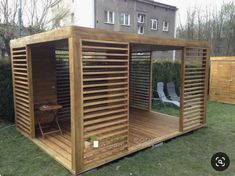
[[[183,131],[184,123],[184,77],[185,77],[185,58],[186,58],[186,48],[182,50],[181,57],[181,71],[180,71],[180,119],[179,119],[179,130]]]

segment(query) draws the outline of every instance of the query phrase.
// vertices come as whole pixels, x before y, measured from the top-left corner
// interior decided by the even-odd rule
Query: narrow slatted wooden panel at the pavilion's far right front
[[[181,131],[191,130],[205,123],[208,51],[203,48],[185,48],[182,62]]]

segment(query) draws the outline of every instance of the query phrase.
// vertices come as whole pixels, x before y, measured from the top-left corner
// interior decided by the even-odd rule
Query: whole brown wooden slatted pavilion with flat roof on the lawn
[[[75,26],[12,40],[16,127],[73,173],[204,127],[208,48]],[[151,111],[151,52],[164,50],[182,51],[180,117]],[[48,102],[63,107],[63,133],[43,138],[37,107]]]

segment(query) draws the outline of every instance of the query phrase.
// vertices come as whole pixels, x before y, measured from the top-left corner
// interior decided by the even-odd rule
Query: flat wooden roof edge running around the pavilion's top
[[[78,36],[81,39],[128,42],[130,44],[150,44],[177,47],[210,48],[208,41],[185,40],[179,38],[163,38],[151,35],[139,35],[126,32],[114,32],[104,29],[68,26],[60,29],[38,33],[10,41],[11,47],[22,47],[29,44],[50,42]]]

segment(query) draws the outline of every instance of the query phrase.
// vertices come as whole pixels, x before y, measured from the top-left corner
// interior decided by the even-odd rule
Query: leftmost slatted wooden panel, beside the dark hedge
[[[16,127],[25,135],[34,136],[30,86],[30,62],[26,47],[12,49],[13,89]]]

